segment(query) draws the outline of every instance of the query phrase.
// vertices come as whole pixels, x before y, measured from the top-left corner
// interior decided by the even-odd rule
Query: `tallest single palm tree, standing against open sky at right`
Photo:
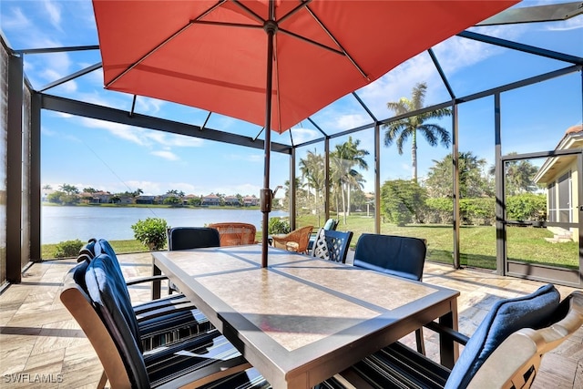
[[[397,102],[386,103],[386,107],[394,111],[398,116],[407,112],[414,112],[424,107],[425,91],[427,84],[418,83],[411,92],[411,100],[407,97],[401,97]],[[409,118],[402,118],[394,122],[383,125],[386,128],[384,133],[384,146],[391,146],[393,142],[397,145],[399,154],[403,154],[403,144],[411,138],[411,165],[413,166],[413,179],[417,181],[417,131],[419,131],[432,147],[441,142],[445,147],[451,144],[451,137],[447,130],[434,123],[425,123],[432,118],[444,118],[450,116],[450,108],[440,108],[435,111],[425,112]]]

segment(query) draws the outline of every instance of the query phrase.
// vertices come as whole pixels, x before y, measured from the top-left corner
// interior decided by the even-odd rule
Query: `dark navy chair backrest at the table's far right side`
[[[426,252],[422,239],[365,233],[356,242],[353,264],[421,281]]]

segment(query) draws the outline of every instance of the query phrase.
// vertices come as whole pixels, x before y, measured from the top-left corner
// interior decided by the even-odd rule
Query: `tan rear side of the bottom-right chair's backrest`
[[[546,328],[524,328],[511,334],[488,357],[468,387],[530,387],[543,354],[583,325],[583,292],[569,294],[553,316]]]

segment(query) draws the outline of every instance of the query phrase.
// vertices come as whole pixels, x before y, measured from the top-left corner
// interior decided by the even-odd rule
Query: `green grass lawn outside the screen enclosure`
[[[332,216],[333,217],[333,216]],[[298,218],[299,226],[322,226],[314,215]],[[365,214],[352,214],[346,220],[340,218],[337,230],[352,230],[354,233],[351,247],[356,246],[360,235],[374,230],[374,220]],[[516,261],[542,263],[578,269],[578,243],[549,243],[544,238],[552,238],[547,229],[532,227],[508,227],[506,247],[508,258]],[[453,227],[451,225],[410,224],[397,227],[394,224],[381,223],[381,233],[387,235],[404,235],[423,238],[427,241],[427,259],[453,263],[454,251]],[[261,241],[261,230],[256,239]],[[145,252],[148,249],[138,241],[110,241],[118,253]],[[55,258],[56,244],[42,246],[43,259]],[[496,269],[496,228],[491,226],[463,226],[460,229],[460,260],[462,265],[485,269]]]

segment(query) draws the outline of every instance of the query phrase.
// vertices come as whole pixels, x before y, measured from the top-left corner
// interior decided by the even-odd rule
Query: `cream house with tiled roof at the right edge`
[[[556,150],[583,148],[583,126],[567,129]],[[547,220],[578,223],[578,158],[576,155],[548,158],[534,177],[547,187]],[[571,238],[578,241],[578,229],[570,228]]]

